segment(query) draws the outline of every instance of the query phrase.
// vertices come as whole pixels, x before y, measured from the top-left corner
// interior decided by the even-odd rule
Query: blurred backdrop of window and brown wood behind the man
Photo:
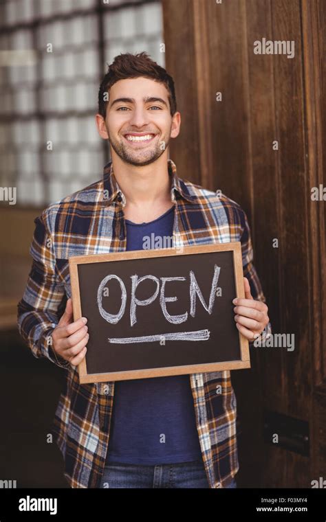
[[[107,64],[142,51],[175,80],[179,176],[243,207],[273,332],[295,336],[232,372],[239,487],[326,479],[326,214],[311,197],[326,186],[325,29],[323,0],[1,1],[0,479],[67,487],[47,441],[64,375],[19,339],[17,302],[34,218],[109,161],[94,122]],[[294,57],[254,54],[262,38],[293,41]]]

